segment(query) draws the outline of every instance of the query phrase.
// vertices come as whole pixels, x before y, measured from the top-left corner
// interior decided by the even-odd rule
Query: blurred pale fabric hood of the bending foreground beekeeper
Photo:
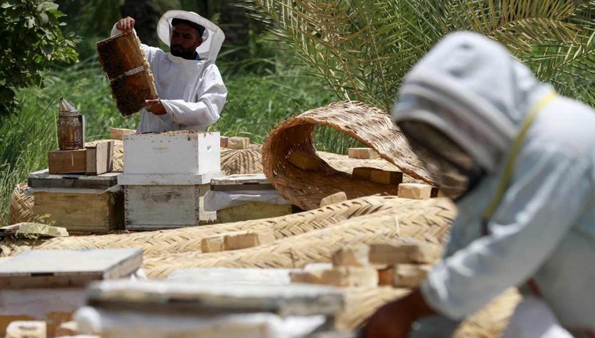
[[[494,40],[455,32],[409,71],[392,116],[439,130],[493,173],[525,116],[552,90]]]

